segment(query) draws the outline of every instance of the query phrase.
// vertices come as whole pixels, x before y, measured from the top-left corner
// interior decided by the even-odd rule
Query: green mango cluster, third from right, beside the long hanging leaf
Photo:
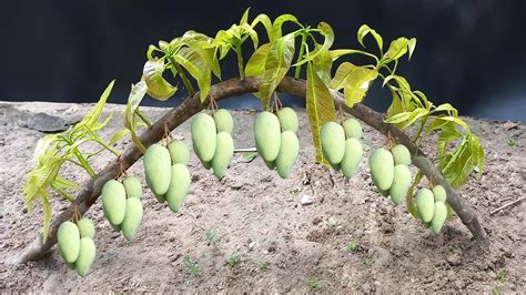
[[[341,170],[345,177],[352,177],[363,159],[362,125],[350,118],[343,126],[336,122],[325,123],[320,131],[323,156],[334,170]]]

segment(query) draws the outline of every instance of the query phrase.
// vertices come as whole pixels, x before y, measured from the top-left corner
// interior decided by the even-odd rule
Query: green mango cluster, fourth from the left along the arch
[[[234,121],[229,111],[220,109],[213,116],[201,112],[192,120],[192,144],[195,155],[205,169],[222,179],[234,155],[232,130]]]

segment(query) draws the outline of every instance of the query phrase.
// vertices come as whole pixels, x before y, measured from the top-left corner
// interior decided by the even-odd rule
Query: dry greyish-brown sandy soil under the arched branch
[[[27,213],[21,194],[37,140],[43,135],[26,128],[26,118],[32,112],[78,118],[89,106],[0,104],[0,293],[526,292],[526,202],[489,214],[526,195],[526,125],[472,119],[466,120],[487,152],[486,171],[461,194],[489,233],[486,252],[456,217],[434,236],[405,205],[394,207],[372,186],[366,161],[351,180],[313,163],[301,111],[302,150],[290,179],[280,179],[260,157],[246,162],[236,155],[226,176],[218,180],[192,155],[185,206],[174,214],[145,189],[144,217],[132,242],[111,230],[100,202],[88,212],[95,223],[98,254],[85,278],[69,269],[54,247],[42,261],[4,264],[41,226],[40,206]],[[107,108],[118,110],[122,106]],[[165,111],[145,110],[151,118]],[[115,114],[105,134],[122,128]],[[234,112],[234,119],[236,146],[253,146],[253,114]],[[371,128],[364,130],[368,156],[385,139]],[[173,134],[191,145],[189,122]],[[124,150],[128,144],[115,146]],[[432,146],[433,140],[424,149]],[[93,166],[102,169],[110,159],[104,154]],[[129,173],[143,180],[142,162]],[[72,167],[63,175],[80,183],[87,177]],[[313,204],[302,205],[304,195],[313,196]],[[55,197],[52,205],[58,214],[68,202]],[[216,233],[213,245],[206,232]],[[357,245],[354,251],[350,243]],[[195,267],[189,267],[188,257]]]

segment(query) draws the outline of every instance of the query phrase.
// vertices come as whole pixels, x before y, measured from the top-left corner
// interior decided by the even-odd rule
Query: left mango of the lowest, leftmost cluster
[[[57,232],[59,252],[65,263],[74,263],[79,257],[80,233],[77,224],[67,221],[60,224]]]

